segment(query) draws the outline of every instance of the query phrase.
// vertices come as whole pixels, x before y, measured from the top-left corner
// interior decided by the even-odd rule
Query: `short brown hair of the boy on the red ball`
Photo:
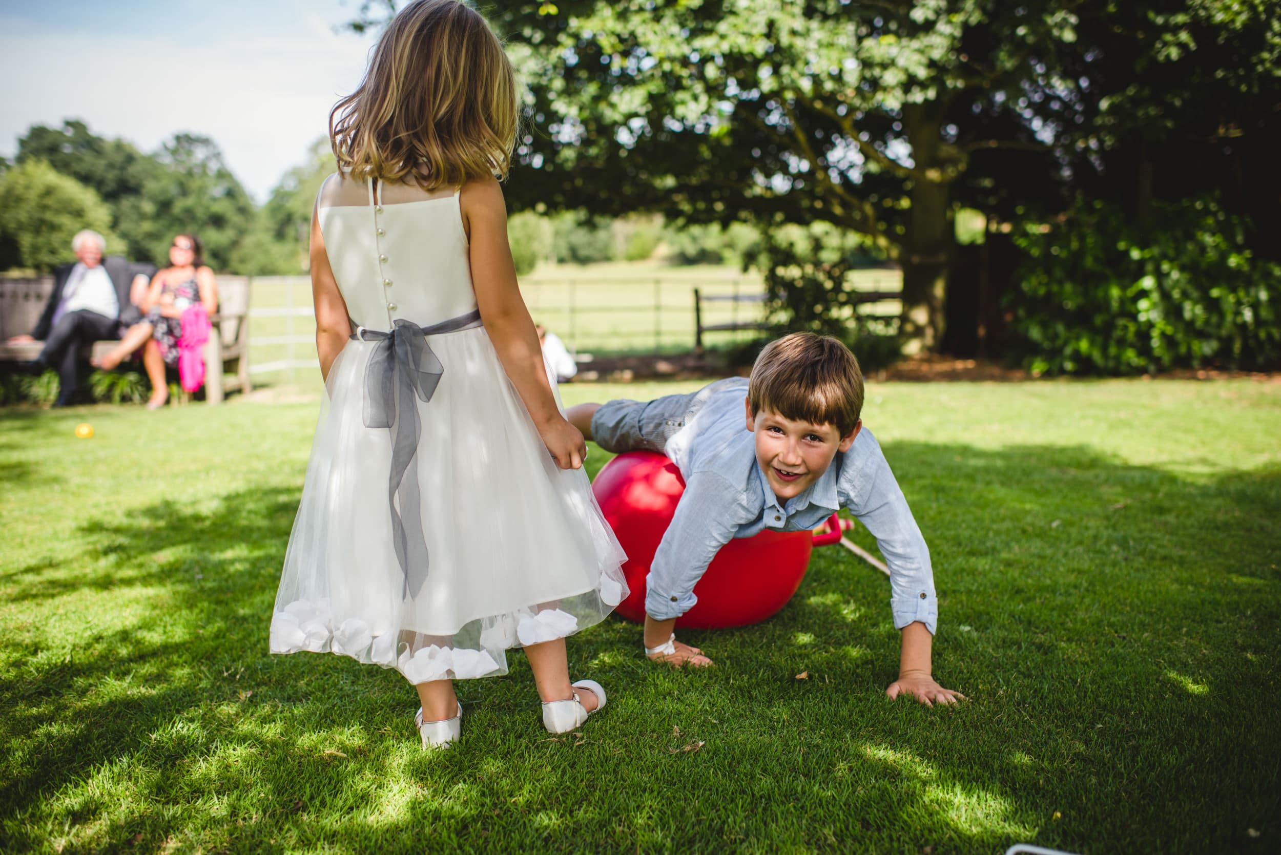
[[[840,339],[793,333],[765,346],[752,366],[747,399],[785,419],[835,425],[842,436],[863,411],[863,374]]]

